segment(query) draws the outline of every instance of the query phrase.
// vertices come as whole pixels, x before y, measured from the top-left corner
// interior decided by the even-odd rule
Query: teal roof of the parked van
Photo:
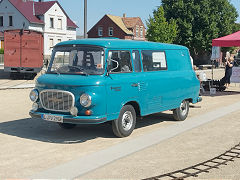
[[[122,40],[113,38],[89,38],[89,39],[79,39],[64,41],[58,43],[56,46],[62,45],[95,45],[105,48],[116,48],[116,49],[187,49],[185,46],[166,44],[166,43],[156,43],[149,41],[134,41],[134,40]]]

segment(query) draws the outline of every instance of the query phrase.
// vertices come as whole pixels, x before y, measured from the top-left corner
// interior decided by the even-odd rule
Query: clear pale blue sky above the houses
[[[68,16],[78,25],[77,34],[83,35],[84,0],[58,0]],[[240,16],[240,0],[230,0]],[[87,0],[88,25],[90,30],[105,14],[140,17],[144,24],[152,12],[161,5],[161,0]],[[240,23],[240,17],[237,20]]]

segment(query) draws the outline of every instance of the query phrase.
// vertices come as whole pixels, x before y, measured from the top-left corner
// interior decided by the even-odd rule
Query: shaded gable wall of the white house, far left
[[[0,16],[3,16],[3,27],[0,27],[0,31],[22,29],[24,24],[26,28],[29,26],[29,21],[8,0],[0,3]],[[9,16],[13,16],[13,26],[9,26]]]

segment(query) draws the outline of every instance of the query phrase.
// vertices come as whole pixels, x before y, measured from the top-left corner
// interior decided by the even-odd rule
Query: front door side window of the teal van
[[[131,56],[129,51],[109,51],[108,70],[114,73],[132,72]]]

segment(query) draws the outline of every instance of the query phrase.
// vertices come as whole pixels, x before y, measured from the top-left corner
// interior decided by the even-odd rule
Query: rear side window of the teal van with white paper
[[[165,52],[142,51],[142,62],[144,71],[160,71],[167,69]]]

